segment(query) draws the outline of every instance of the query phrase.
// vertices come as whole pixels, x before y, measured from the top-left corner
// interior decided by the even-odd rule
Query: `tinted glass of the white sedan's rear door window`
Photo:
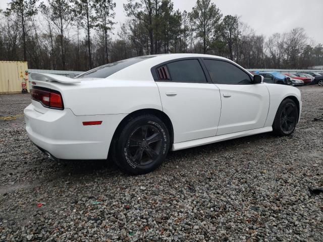
[[[158,79],[170,80],[172,82],[194,82],[194,83],[203,83],[206,82],[206,78],[203,72],[203,69],[197,59],[184,59],[182,61],[168,63],[166,66],[169,73],[169,77],[166,78],[160,71],[160,68],[157,68]],[[164,68],[163,67],[163,68]]]

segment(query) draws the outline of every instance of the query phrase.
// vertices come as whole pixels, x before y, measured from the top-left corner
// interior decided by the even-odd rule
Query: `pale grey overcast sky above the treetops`
[[[288,32],[302,27],[314,43],[323,43],[323,0],[211,0],[223,15],[237,15],[257,34],[266,36]],[[0,0],[5,9],[10,0]],[[115,33],[126,20],[123,4],[127,0],[115,0]],[[196,0],[173,0],[174,8],[190,12]]]

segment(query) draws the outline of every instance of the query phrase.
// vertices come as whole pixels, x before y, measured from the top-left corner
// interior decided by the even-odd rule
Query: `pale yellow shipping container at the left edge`
[[[29,92],[27,62],[0,61],[0,94],[21,93],[23,84]]]

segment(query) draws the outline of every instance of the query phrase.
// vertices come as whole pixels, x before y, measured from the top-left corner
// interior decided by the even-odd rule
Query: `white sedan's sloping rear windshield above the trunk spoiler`
[[[142,62],[145,59],[148,59],[151,57],[154,57],[154,56],[139,56],[139,57],[134,57],[130,59],[123,59],[122,61],[119,61],[119,62],[109,63],[104,66],[92,69],[84,74],[81,74],[76,78],[107,78],[112,74],[115,74],[116,72],[119,72],[120,70],[126,67],[129,67],[138,62]]]

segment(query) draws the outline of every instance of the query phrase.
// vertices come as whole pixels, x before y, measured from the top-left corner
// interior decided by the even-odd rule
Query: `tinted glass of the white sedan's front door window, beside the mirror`
[[[204,64],[214,83],[251,84],[250,76],[231,63],[216,59],[204,59]]]

